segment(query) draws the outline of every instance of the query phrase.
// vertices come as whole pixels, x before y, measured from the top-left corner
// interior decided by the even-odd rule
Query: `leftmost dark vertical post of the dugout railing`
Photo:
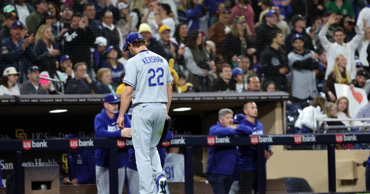
[[[24,178],[22,167],[22,152],[14,152],[14,193],[23,194],[24,192]]]

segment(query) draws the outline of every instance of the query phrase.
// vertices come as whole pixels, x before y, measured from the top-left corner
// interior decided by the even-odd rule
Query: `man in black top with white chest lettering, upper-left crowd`
[[[85,25],[84,25],[85,24]],[[80,13],[72,16],[72,28],[64,33],[64,54],[69,55],[73,62],[85,62],[91,68],[91,52],[95,36],[90,30],[87,17],[81,18]]]

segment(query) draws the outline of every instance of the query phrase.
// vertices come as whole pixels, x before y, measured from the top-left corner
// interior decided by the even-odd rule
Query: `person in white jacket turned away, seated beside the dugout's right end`
[[[325,118],[324,110],[326,102],[326,98],[319,95],[313,99],[310,106],[302,110],[294,124],[296,133],[311,133],[316,131],[317,120]]]

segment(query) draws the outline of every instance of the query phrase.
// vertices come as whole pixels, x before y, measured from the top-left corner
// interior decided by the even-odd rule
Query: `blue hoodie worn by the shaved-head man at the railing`
[[[238,131],[243,135],[263,135],[265,131],[263,125],[255,119],[256,124],[252,124],[248,120],[243,120],[238,126]],[[266,150],[270,146],[266,146]],[[257,147],[256,146],[239,146],[239,170],[241,171],[255,171],[257,170]],[[266,168],[266,160],[265,160]]]

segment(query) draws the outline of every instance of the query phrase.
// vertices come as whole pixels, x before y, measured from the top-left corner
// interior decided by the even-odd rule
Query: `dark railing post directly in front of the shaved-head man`
[[[258,193],[266,193],[265,145],[257,147]]]

